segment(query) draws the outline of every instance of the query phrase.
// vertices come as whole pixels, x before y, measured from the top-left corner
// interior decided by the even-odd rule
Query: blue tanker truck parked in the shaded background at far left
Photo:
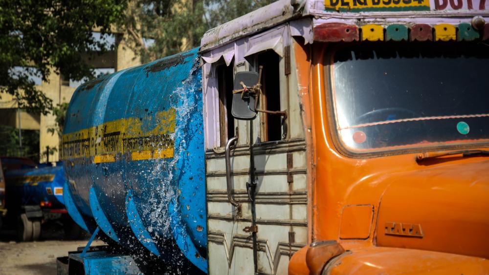
[[[36,168],[24,166],[24,160],[18,160],[21,159],[1,159],[6,168],[3,226],[15,229],[19,241],[35,241],[41,236],[41,224],[59,220],[63,223],[66,238],[79,238],[81,229],[65,209],[63,188],[66,178],[61,162],[56,167],[39,165]]]

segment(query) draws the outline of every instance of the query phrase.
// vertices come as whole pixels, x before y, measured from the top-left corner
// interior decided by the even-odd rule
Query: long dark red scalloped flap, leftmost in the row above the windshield
[[[314,41],[352,42],[358,41],[358,27],[343,23],[324,23],[314,27]]]

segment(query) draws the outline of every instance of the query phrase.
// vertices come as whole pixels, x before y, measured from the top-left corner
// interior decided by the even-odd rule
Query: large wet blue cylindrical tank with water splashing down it
[[[67,210],[82,228],[207,272],[198,49],[89,81],[69,104]],[[177,252],[177,253],[176,253]],[[181,253],[179,253],[181,252]]]

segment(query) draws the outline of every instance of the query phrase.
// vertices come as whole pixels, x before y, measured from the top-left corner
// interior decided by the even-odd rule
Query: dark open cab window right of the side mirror
[[[256,57],[255,69],[263,66],[262,94],[260,108],[268,111],[280,111],[280,57],[274,51],[259,53]],[[262,142],[282,139],[282,117],[279,115],[260,113],[260,131]]]

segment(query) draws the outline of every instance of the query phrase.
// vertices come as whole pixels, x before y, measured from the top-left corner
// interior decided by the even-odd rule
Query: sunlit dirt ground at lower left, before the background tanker
[[[0,275],[56,275],[56,258],[67,256],[87,244],[82,240],[62,240],[63,231],[47,228],[37,242],[16,242],[15,231],[0,232]],[[103,242],[94,241],[92,245]]]

